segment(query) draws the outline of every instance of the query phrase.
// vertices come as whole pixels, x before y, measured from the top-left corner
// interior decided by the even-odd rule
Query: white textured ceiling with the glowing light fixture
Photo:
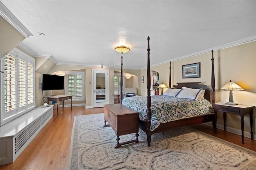
[[[34,35],[21,46],[57,64],[145,68],[256,36],[255,0],[1,0]],[[45,36],[36,35],[37,32]]]

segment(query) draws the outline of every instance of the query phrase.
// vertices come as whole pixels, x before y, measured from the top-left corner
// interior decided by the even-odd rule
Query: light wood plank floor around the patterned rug
[[[0,166],[1,170],[64,170],[67,166],[70,149],[70,139],[75,115],[88,115],[93,113],[103,113],[104,108],[85,109],[82,106],[64,107],[64,111],[59,109],[53,111],[53,118],[38,133],[34,140],[26,147],[20,156],[12,164]],[[104,122],[102,121],[102,124]],[[214,134],[212,127],[206,125],[193,125],[195,129],[224,139],[236,145],[240,145],[250,150],[256,151],[256,141],[248,138],[241,143],[240,135],[235,135],[218,129]]]

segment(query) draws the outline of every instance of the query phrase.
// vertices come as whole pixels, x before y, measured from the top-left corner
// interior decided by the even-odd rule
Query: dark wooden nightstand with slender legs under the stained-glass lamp
[[[222,111],[223,112],[223,120],[224,120],[224,131],[226,131],[226,113],[234,113],[238,114],[241,117],[241,131],[242,131],[242,143],[244,143],[244,115],[250,114],[250,127],[251,127],[251,139],[252,138],[252,114],[253,108],[255,106],[248,105],[226,105],[226,104],[213,104],[214,111]]]

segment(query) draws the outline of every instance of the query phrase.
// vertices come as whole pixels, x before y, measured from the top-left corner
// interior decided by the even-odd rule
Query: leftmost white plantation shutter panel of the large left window
[[[16,108],[16,58],[4,57],[4,112]]]

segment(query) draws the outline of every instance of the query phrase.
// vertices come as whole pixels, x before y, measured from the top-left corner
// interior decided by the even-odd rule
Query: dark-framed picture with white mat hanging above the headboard
[[[182,66],[182,78],[200,77],[200,63],[187,64]]]

